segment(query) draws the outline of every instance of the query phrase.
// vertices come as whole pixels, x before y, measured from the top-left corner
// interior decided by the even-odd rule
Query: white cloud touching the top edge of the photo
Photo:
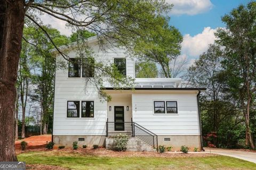
[[[174,4],[171,14],[196,15],[211,10],[213,4],[210,0],[166,0]]]

